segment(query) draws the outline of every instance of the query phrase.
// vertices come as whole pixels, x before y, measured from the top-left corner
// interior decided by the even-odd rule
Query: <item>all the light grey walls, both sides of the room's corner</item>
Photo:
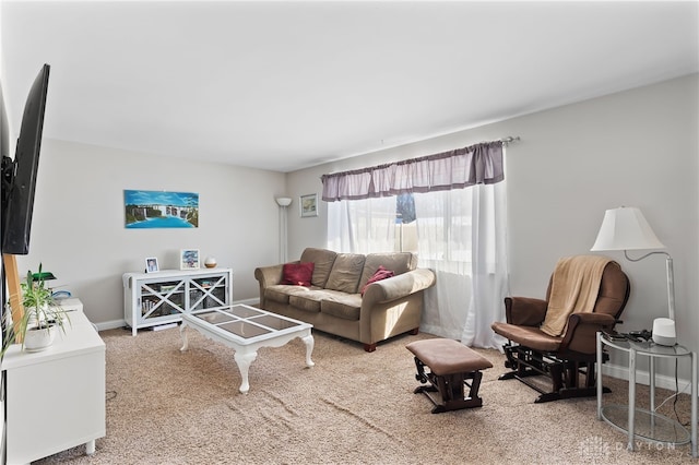
[[[298,214],[298,196],[320,193],[322,174],[519,135],[507,154],[511,293],[543,296],[558,258],[589,252],[604,210],[639,206],[675,259],[678,339],[699,350],[698,87],[695,74],[286,176],[45,140],[32,249],[19,258],[20,273],[42,261],[93,321],[118,323],[122,273],[142,270],[151,255],[175,267],[179,249],[198,248],[234,269],[235,300],[254,299],[253,269],[279,261],[275,196],[294,199],[295,259],[325,243],[325,204],[318,217]],[[200,228],[127,230],[123,189],[199,192]],[[666,313],[664,260],[608,254],[632,285],[619,329],[650,327]]]

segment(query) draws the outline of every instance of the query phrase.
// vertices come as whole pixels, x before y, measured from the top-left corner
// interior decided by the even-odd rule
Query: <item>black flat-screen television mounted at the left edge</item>
[[[29,252],[49,69],[44,64],[29,90],[14,160],[2,158],[2,253],[26,255]]]

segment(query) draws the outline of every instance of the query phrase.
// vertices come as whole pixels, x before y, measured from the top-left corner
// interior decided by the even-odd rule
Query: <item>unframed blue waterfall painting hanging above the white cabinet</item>
[[[198,228],[199,194],[193,192],[123,191],[126,227]]]

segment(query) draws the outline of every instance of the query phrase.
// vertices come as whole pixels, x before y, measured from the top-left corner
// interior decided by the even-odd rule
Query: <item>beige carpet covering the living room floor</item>
[[[199,333],[190,332],[187,353],[179,351],[177,329],[102,336],[107,436],[91,457],[81,446],[38,463],[696,463],[688,445],[639,443],[639,451],[626,451],[626,437],[597,421],[594,398],[534,404],[536,393],[524,384],[497,380],[506,371],[497,350],[478,349],[494,365],[484,372],[484,406],[433,415],[429,401],[412,393],[418,382],[405,349],[428,334],[401,336],[367,354],[318,332],[310,369],[299,339],[262,349],[247,395],[238,392],[233,351]],[[605,383],[614,390],[605,402],[626,402],[624,381]],[[647,389],[639,389],[641,397]],[[682,397],[676,408],[688,422]],[[664,412],[674,415],[667,405]]]

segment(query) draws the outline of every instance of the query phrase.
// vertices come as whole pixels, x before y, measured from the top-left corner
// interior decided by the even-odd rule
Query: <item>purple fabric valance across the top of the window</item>
[[[322,200],[358,200],[463,189],[505,179],[502,142],[485,142],[371,168],[323,175]]]

